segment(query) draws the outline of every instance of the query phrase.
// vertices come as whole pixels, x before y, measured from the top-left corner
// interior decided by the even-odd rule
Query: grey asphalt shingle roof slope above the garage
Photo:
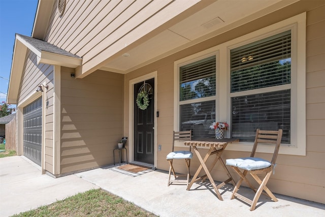
[[[42,51],[47,51],[47,52],[51,52],[51,53],[57,53],[57,54],[61,54],[61,55],[65,55],[65,56],[71,56],[71,57],[76,57],[76,58],[81,58],[80,56],[77,56],[73,53],[70,53],[66,50],[63,50],[55,45],[52,45],[48,42],[39,40],[39,39],[35,39],[35,38],[31,38],[28,36],[24,36],[24,35],[20,35],[17,34],[17,36],[20,36],[22,39],[24,39],[27,43],[29,43],[30,45],[34,46],[35,48],[42,50]]]

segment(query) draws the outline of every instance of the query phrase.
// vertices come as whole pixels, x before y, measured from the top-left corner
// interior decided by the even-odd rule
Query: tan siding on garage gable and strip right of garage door
[[[51,135],[53,129],[53,66],[46,65],[46,64],[39,64],[37,65],[37,56],[30,50],[27,50],[26,59],[23,68],[23,75],[20,81],[19,86],[19,96],[18,96],[18,104],[22,101],[26,100],[26,98],[35,92],[36,88],[39,84],[46,82],[49,85],[49,88],[46,92],[47,94],[47,101],[48,107],[45,109],[45,139],[46,143],[43,147],[45,150],[53,146],[53,138]],[[43,104],[44,105],[44,104]],[[50,118],[49,118],[50,117]],[[21,132],[22,133],[22,132]],[[53,134],[53,133],[52,133]],[[53,172],[53,153],[48,151],[45,152],[45,170],[49,172]]]

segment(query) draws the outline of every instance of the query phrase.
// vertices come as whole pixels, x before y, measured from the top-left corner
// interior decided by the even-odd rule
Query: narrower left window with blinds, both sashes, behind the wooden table
[[[215,55],[182,66],[179,73],[180,130],[192,130],[193,138],[214,136],[209,127],[215,121]]]

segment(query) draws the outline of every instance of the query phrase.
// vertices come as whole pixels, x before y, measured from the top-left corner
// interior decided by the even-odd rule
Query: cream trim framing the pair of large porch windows
[[[212,55],[216,59],[216,119],[231,122],[230,49],[291,29],[291,144],[282,144],[280,154],[306,156],[306,12],[258,29],[234,40],[179,59],[174,63],[174,130],[179,130],[179,67]],[[221,73],[219,73],[221,72]],[[226,73],[223,73],[226,72]],[[295,73],[296,72],[296,73]],[[299,87],[299,88],[297,88]],[[275,87],[276,88],[276,87]],[[298,97],[299,96],[299,97]],[[217,107],[218,106],[218,107]],[[226,137],[230,131],[226,131]],[[237,142],[227,150],[251,151],[252,142]],[[182,143],[176,144],[182,146]],[[257,152],[273,153],[273,146],[261,146]]]

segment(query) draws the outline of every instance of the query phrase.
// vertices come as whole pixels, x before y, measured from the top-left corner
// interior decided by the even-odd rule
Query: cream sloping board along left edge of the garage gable
[[[7,93],[7,103],[9,104],[17,104],[19,84],[24,67],[26,51],[27,47],[16,38]]]

